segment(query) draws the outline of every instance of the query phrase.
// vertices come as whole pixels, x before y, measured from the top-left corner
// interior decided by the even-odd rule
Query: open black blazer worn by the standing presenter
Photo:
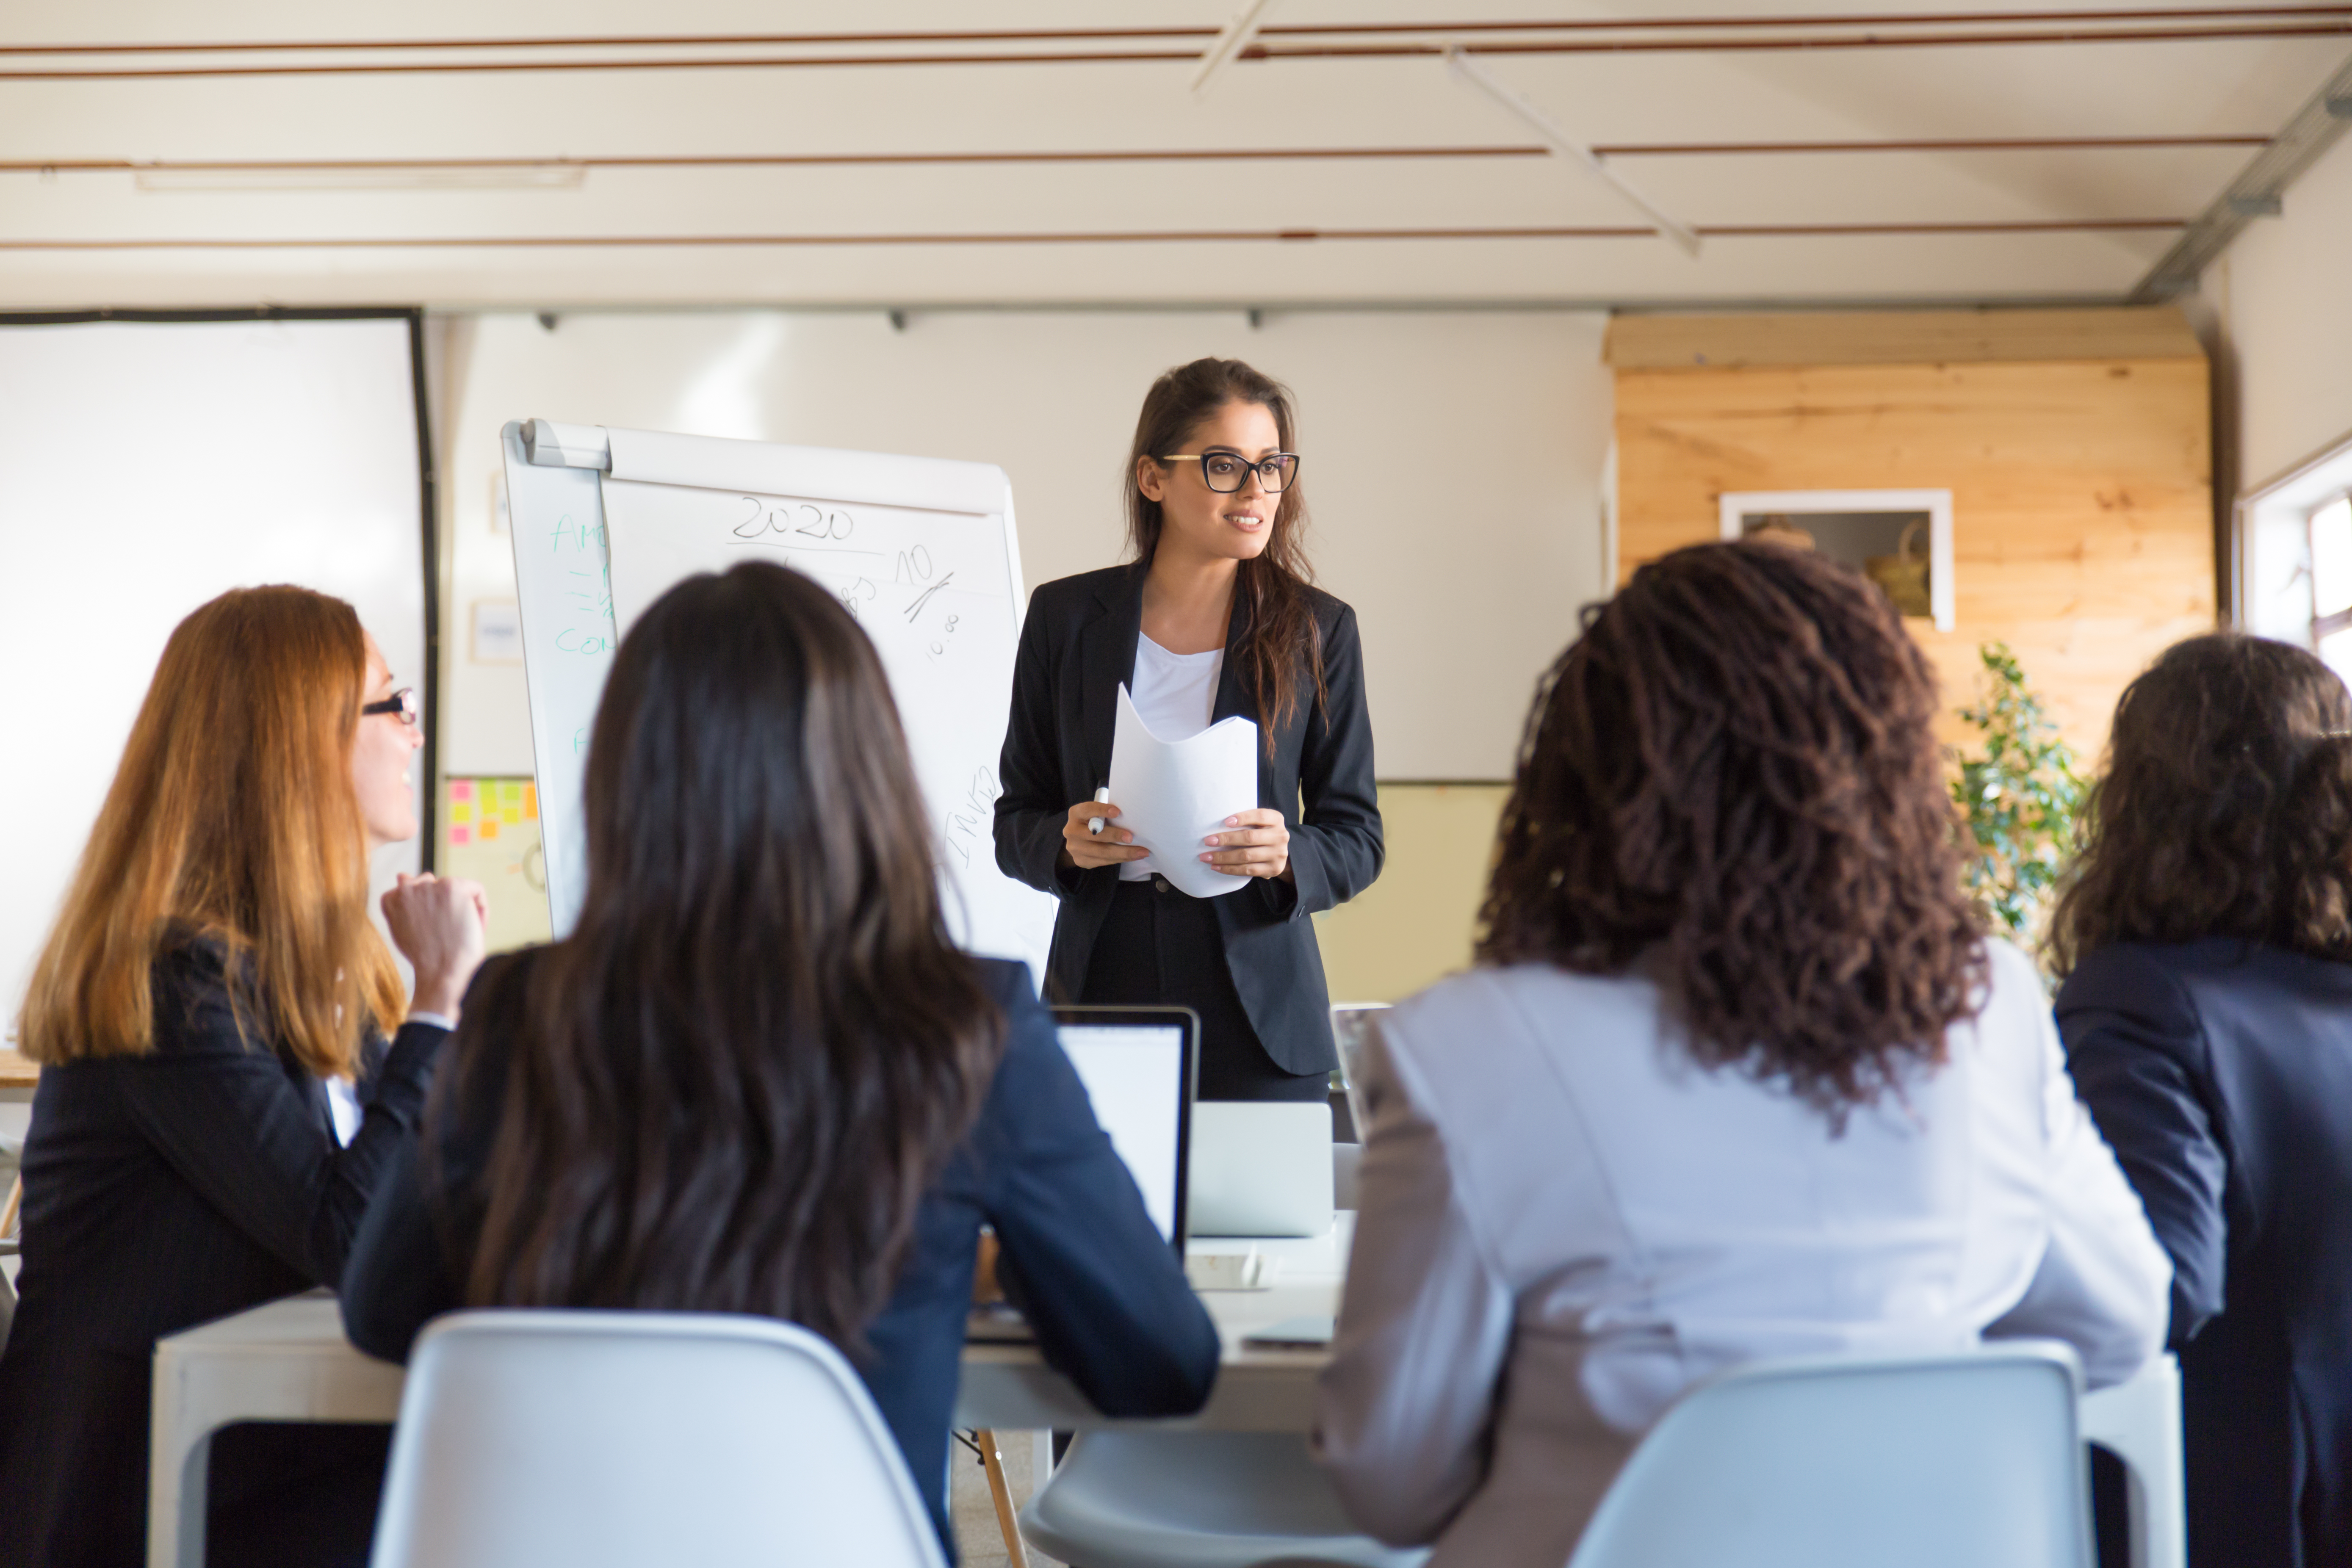
[[[1120,889],[1120,867],[1056,865],[1061,827],[1075,802],[1110,780],[1110,736],[1120,686],[1134,679],[1143,635],[1145,569],[1110,567],[1044,583],[1030,595],[1014,665],[1014,710],[997,776],[997,865],[1061,898],[1047,994],[1077,1001],[1094,936]],[[1268,877],[1211,898],[1225,933],[1225,966],[1265,1053],[1284,1072],[1338,1067],[1331,1046],[1331,992],[1310,914],[1348,903],[1381,875],[1381,797],[1371,780],[1371,715],[1364,712],[1364,644],[1355,611],[1308,590],[1322,630],[1329,705],[1308,701],[1275,731],[1275,755],[1258,750],[1258,804],[1291,830],[1294,884]],[[1225,670],[1211,719],[1261,722],[1242,670],[1247,607],[1235,595]],[[1305,677],[1305,668],[1301,668]],[[1303,799],[1303,804],[1301,804]]]

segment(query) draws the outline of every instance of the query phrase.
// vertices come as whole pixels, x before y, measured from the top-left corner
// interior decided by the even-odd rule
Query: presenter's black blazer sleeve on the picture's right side
[[[1381,790],[1371,778],[1364,644],[1348,607],[1324,639],[1324,708],[1308,719],[1298,759],[1301,811],[1291,830],[1296,891],[1279,882],[1258,884],[1294,919],[1322,914],[1369,889],[1385,856]]]

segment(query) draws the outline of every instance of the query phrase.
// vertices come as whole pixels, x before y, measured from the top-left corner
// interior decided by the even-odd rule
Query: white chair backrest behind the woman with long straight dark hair
[[[941,1568],[821,1338],[701,1312],[461,1312],[409,1361],[372,1568]]]

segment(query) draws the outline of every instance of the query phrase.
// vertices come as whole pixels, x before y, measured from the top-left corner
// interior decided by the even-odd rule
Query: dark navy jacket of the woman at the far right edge
[[[2173,1258],[2190,1561],[2352,1563],[2352,964],[2117,943],[2058,1027]]]

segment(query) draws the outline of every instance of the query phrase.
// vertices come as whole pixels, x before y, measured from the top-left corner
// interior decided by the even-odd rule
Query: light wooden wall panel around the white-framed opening
[[[1618,369],[1618,564],[1717,536],[1745,489],[1950,489],[1945,708],[2009,642],[2096,755],[2124,684],[2213,628],[2204,360]],[[1957,722],[1947,738],[1962,738]]]

